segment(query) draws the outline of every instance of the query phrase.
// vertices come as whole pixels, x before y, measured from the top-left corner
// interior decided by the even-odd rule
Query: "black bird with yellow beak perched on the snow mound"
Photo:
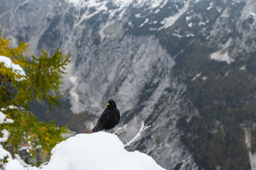
[[[113,100],[109,100],[107,108],[101,114],[97,124],[92,129],[92,132],[99,132],[102,130],[109,130],[115,127],[120,120],[120,112],[116,108],[116,103]]]

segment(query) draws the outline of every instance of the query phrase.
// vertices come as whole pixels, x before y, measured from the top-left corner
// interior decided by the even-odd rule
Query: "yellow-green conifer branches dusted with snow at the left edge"
[[[51,56],[44,50],[40,57],[29,56],[28,46],[20,42],[19,46],[11,48],[10,39],[0,34],[0,55],[19,64],[26,73],[13,71],[0,61],[0,111],[14,121],[0,124],[0,130],[10,133],[8,140],[1,144],[12,155],[19,153],[20,146],[29,146],[32,157],[42,153],[49,158],[49,152],[63,140],[61,135],[68,129],[54,122],[38,122],[29,111],[28,103],[41,101],[49,104],[50,109],[59,105],[61,74],[69,62],[69,55],[57,49]]]

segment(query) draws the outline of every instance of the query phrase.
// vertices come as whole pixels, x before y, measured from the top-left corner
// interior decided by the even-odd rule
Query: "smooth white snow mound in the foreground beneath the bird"
[[[6,164],[6,170],[163,170],[152,157],[138,151],[127,152],[120,139],[107,132],[77,134],[52,149],[47,165],[20,167],[17,161]]]

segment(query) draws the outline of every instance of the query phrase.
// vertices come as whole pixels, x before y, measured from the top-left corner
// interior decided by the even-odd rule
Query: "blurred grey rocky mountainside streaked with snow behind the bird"
[[[167,169],[228,169],[228,160],[207,156],[213,154],[207,145],[215,144],[217,131],[226,138],[229,124],[219,114],[205,115],[253,103],[253,0],[4,0],[0,6],[4,36],[28,41],[35,54],[57,47],[70,53],[61,92],[72,112],[100,115],[106,101],[115,99],[122,124],[129,124],[124,138],[132,138],[141,120],[152,125],[132,149],[149,153]],[[252,92],[241,91],[248,96],[237,98],[240,105],[234,103],[236,97],[216,97],[227,94],[234,78],[229,76],[253,84]],[[219,87],[227,81],[227,86],[216,89],[215,81]],[[236,94],[234,89],[230,93]],[[211,108],[214,104],[218,109]],[[208,105],[211,111],[204,108]],[[196,118],[198,123],[207,120],[206,133],[203,123],[195,128]],[[92,122],[85,124],[92,128]],[[250,159],[243,161],[241,168],[250,168]]]

